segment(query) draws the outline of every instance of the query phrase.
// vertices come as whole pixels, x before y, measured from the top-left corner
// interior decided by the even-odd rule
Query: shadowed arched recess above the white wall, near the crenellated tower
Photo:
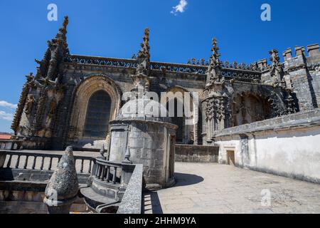
[[[271,118],[271,105],[267,98],[242,93],[233,99],[232,127]]]

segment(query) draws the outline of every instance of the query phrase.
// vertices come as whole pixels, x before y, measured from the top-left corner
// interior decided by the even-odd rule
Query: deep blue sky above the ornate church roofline
[[[260,19],[265,3],[272,21]],[[58,21],[48,21],[48,4],[58,6]],[[43,57],[65,15],[70,53],[131,58],[148,27],[153,61],[207,59],[215,36],[223,61],[252,63],[272,48],[319,43],[319,9],[319,0],[0,1],[0,132],[11,132],[24,76],[36,73],[34,58]]]

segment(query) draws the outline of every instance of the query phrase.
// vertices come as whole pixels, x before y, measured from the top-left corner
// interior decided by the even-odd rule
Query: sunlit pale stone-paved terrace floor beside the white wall
[[[320,213],[320,185],[216,163],[176,162],[175,187],[144,195],[144,212]],[[271,206],[262,206],[262,190]]]

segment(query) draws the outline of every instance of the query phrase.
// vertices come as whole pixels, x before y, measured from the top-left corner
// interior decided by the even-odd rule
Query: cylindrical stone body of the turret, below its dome
[[[123,162],[126,154],[134,164],[142,164],[149,189],[164,188],[174,180],[175,125],[146,120],[115,120],[111,123],[110,156]]]

